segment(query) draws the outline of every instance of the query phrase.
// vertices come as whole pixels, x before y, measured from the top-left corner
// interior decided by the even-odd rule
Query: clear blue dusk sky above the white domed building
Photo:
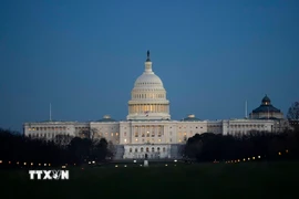
[[[125,119],[147,50],[172,119],[299,100],[298,0],[2,0],[0,127]]]

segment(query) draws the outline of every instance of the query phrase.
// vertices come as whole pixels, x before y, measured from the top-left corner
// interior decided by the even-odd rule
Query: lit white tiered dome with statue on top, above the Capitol
[[[153,72],[150,51],[145,70],[137,77],[128,101],[127,119],[169,119],[169,101],[162,80]]]

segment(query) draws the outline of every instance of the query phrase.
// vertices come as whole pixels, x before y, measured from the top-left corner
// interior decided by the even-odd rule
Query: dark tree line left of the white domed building
[[[60,137],[60,136],[58,136]],[[34,139],[18,132],[0,128],[0,160],[11,163],[81,165],[102,163],[113,157],[113,145],[105,138],[72,137],[68,145],[54,140]]]

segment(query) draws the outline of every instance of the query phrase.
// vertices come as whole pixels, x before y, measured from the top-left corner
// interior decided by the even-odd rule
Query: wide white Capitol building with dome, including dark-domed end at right
[[[195,134],[247,134],[251,130],[280,132],[288,127],[283,114],[271,105],[266,95],[261,105],[240,119],[202,121],[188,115],[182,121],[171,119],[169,101],[162,80],[153,72],[150,51],[143,74],[136,80],[128,101],[126,121],[109,115],[95,122],[25,123],[23,132],[31,138],[68,144],[72,137],[106,138],[115,146],[115,159],[179,158],[179,150]]]

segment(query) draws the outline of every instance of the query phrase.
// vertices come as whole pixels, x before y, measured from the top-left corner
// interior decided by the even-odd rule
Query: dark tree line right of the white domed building
[[[299,132],[250,132],[247,135],[196,134],[188,138],[184,156],[197,161],[229,161],[244,158],[299,159]]]

